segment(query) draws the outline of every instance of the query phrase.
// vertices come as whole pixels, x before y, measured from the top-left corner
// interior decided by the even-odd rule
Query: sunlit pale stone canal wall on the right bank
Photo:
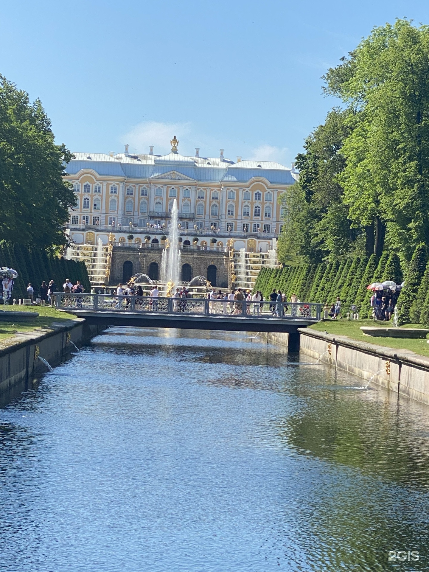
[[[429,405],[429,358],[309,328],[299,331],[301,352]]]

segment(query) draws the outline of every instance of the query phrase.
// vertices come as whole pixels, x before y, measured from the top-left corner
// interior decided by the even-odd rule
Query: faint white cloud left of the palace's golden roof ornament
[[[153,145],[155,154],[166,154],[171,150],[170,140],[174,135],[180,141],[188,134],[188,123],[162,123],[160,121],[144,121],[136,125],[130,132],[121,137],[122,143],[130,145],[134,153],[149,153],[149,145]]]

